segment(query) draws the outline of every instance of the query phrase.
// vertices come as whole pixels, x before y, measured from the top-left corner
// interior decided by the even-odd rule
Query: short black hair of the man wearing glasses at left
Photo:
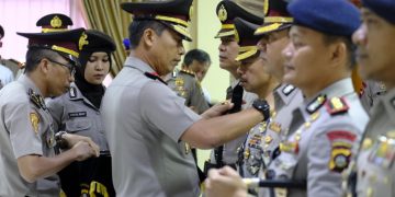
[[[26,53],[25,73],[32,72],[43,58],[56,59],[60,55],[50,49],[32,47]]]

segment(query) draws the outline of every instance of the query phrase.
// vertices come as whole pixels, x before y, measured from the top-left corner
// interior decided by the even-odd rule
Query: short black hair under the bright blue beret
[[[354,66],[357,65],[357,60],[356,60],[356,45],[352,43],[351,37],[346,37],[346,36],[338,36],[338,35],[329,35],[329,34],[324,34],[324,44],[326,45],[330,45],[337,42],[341,42],[346,44],[346,48],[347,48],[347,61],[348,61],[348,66],[350,68],[350,70],[352,70],[354,68]]]

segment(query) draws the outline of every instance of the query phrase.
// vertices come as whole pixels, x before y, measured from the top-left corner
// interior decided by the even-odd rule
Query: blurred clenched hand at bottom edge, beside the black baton
[[[205,181],[206,197],[246,197],[247,186],[242,183],[239,174],[229,166],[208,171],[208,177]]]

